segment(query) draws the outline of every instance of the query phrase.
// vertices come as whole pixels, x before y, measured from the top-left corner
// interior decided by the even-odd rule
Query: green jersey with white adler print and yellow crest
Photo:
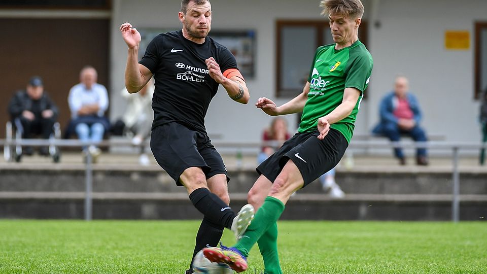
[[[345,88],[353,87],[362,91],[354,110],[349,116],[330,125],[350,143],[372,65],[372,56],[360,41],[339,50],[335,50],[335,44],[319,47],[309,71],[310,89],[298,131],[317,130],[318,119],[341,104]]]

